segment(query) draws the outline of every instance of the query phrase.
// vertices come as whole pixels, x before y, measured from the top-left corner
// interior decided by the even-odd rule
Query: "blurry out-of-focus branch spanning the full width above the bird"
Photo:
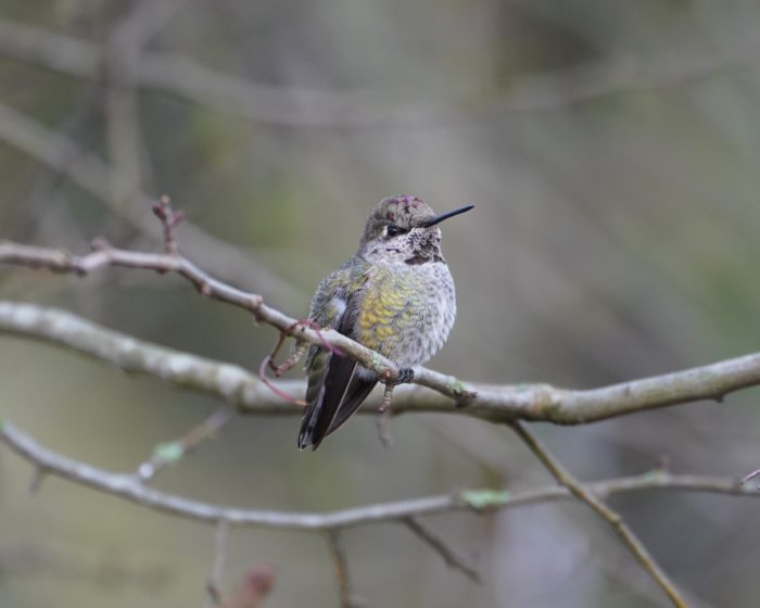
[[[178,0],[179,1],[179,0]],[[733,53],[662,49],[646,59],[617,56],[582,66],[524,75],[516,85],[480,104],[378,99],[378,91],[338,92],[278,88],[220,74],[180,55],[143,51],[134,84],[179,96],[264,124],[291,127],[441,125],[501,115],[541,112],[605,94],[683,85],[718,72],[755,69],[760,39],[737,41]],[[96,43],[0,18],[0,53],[78,78],[97,78],[104,63]]]

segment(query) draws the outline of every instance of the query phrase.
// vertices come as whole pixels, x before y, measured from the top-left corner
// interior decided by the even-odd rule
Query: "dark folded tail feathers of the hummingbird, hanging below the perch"
[[[312,445],[316,449],[321,441],[338,429],[356,411],[376,384],[356,373],[357,364],[349,357],[330,355],[325,385],[304,413],[299,433],[299,448]]]

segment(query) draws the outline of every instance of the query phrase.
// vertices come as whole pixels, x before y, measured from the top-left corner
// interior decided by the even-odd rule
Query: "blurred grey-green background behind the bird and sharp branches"
[[[591,388],[758,350],[760,3],[0,0],[0,238],[156,249],[172,195],[185,253],[303,317],[381,198],[436,211],[457,326],[431,367]],[[0,268],[0,296],[61,306],[254,368],[276,340],[175,277]],[[129,471],[219,406],[0,337],[0,416]],[[299,377],[297,372],[292,375]],[[760,466],[757,391],[580,428],[534,426],[583,480]],[[316,453],[297,420],[236,420],[156,487],[241,507],[332,509],[454,487],[552,483],[508,431],[369,417]],[[0,449],[0,604],[199,606],[214,531],[56,479]],[[757,603],[757,504],[612,501],[695,606]],[[653,607],[664,598],[585,507],[429,523],[476,585],[402,527],[345,534],[366,605]],[[236,530],[224,587],[271,563],[266,606],[335,606],[319,536]]]

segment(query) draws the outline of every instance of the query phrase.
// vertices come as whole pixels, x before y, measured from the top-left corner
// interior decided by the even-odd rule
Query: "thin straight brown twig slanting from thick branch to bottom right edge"
[[[668,577],[644,544],[629,528],[623,518],[617,511],[607,506],[604,501],[601,501],[601,498],[599,498],[599,496],[593,492],[593,490],[577,481],[573,476],[561,465],[561,463],[559,463],[552,455],[548,448],[543,445],[541,440],[529,431],[524,425],[519,421],[515,421],[511,423],[511,428],[539,459],[539,461],[544,465],[546,470],[552,474],[557,483],[567,487],[573,496],[591,507],[599,517],[609,523],[622,543],[636,558],[641,567],[648,572],[649,575],[651,575],[651,578],[670,598],[673,606],[676,608],[687,608],[688,604],[683,598],[675,584],[670,580],[670,577]]]

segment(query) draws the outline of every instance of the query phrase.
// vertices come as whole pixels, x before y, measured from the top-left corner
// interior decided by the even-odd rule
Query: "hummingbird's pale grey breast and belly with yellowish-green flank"
[[[456,317],[454,281],[445,264],[378,270],[366,286],[355,338],[401,367],[420,365],[443,345]]]

